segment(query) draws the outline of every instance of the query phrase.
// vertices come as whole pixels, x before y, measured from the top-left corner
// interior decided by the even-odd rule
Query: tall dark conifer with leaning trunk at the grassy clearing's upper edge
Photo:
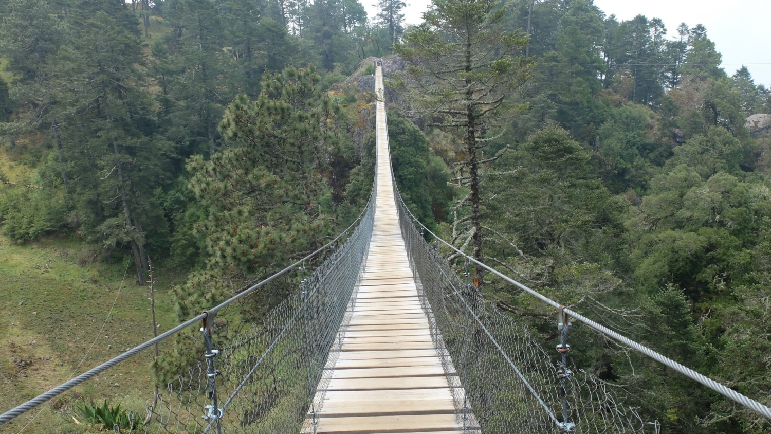
[[[60,156],[66,156],[60,163],[72,183],[72,220],[106,252],[129,246],[144,284],[143,224],[159,212],[153,189],[168,180],[171,150],[149,134],[150,99],[135,67],[142,62],[137,32],[103,10],[79,8],[72,18],[79,22],[74,38],[52,56],[42,91]]]

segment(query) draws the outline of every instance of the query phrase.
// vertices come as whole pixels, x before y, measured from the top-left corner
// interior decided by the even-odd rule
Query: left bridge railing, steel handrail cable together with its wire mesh
[[[123,426],[113,426],[115,432],[297,434],[304,424],[312,431],[314,409],[332,373],[324,368],[338,355],[339,329],[347,324],[348,303],[372,237],[376,183],[375,179],[362,214],[325,246],[157,338],[2,413],[0,425],[175,338],[177,345],[168,347],[170,363],[160,369],[162,384],[155,394],[148,385],[146,413],[133,409],[136,416]],[[308,261],[335,247],[314,271],[305,273]],[[237,313],[227,312],[223,319],[217,314],[225,314],[225,308],[271,282],[285,284],[288,279],[280,279],[291,273],[301,279],[295,294],[268,311],[260,323],[235,336],[224,335],[223,325]]]

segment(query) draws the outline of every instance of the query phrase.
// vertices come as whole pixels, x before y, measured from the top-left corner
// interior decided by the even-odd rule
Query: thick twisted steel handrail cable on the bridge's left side
[[[373,187],[376,184],[373,183]],[[361,220],[362,216],[365,215],[366,211],[369,210],[369,207],[372,203],[372,194],[374,193],[374,190],[372,193],[370,193],[369,200],[367,201],[367,205],[364,207],[362,212],[359,214],[359,217],[356,217],[356,219],[353,221],[353,223],[348,226],[345,230],[343,230],[340,234],[338,234],[337,237],[335,237],[332,241],[329,241],[327,244],[323,245],[322,247],[319,247],[315,251],[313,251],[311,254],[308,254],[307,256],[303,257],[299,261],[295,262],[294,264],[289,265],[288,267],[285,267],[283,270],[278,271],[277,273],[271,275],[270,277],[264,279],[263,281],[260,281],[258,284],[252,285],[250,288],[247,288],[246,290],[242,291],[241,293],[235,295],[232,298],[227,299],[226,301],[223,301],[221,304],[217,304],[217,306],[214,306],[214,308],[210,308],[207,312],[204,312],[200,315],[197,315],[195,318],[191,318],[185,322],[183,322],[180,325],[177,325],[177,327],[172,328],[166,332],[164,332],[161,335],[158,335],[155,338],[150,339],[149,341],[144,342],[143,344],[137,345],[136,347],[130,349],[127,352],[124,352],[121,355],[118,355],[115,358],[112,358],[108,360],[107,362],[104,362],[103,364],[96,366],[96,368],[92,368],[87,372],[83,372],[81,375],[78,375],[75,378],[72,378],[71,380],[62,383],[61,385],[56,386],[55,388],[49,390],[48,392],[44,392],[41,395],[36,396],[33,399],[30,399],[27,402],[24,402],[23,404],[17,405],[13,409],[8,410],[7,412],[2,413],[0,415],[0,425],[10,422],[12,419],[15,419],[16,417],[19,417],[19,415],[24,414],[25,412],[29,412],[29,410],[35,409],[38,405],[41,405],[42,403],[49,401],[50,399],[56,398],[56,396],[61,395],[64,392],[69,391],[76,385],[81,384],[82,382],[86,382],[90,378],[93,378],[96,375],[99,375],[102,372],[105,372],[109,368],[113,368],[114,366],[120,364],[121,362],[124,362],[126,359],[133,357],[134,355],[142,352],[143,350],[150,348],[151,346],[157,344],[160,341],[163,341],[164,339],[169,338],[170,336],[176,335],[180,331],[183,331],[184,329],[196,324],[198,321],[203,320],[204,318],[207,318],[208,314],[215,314],[217,311],[220,311],[222,308],[227,307],[230,304],[233,304],[234,301],[240,300],[241,298],[246,297],[247,295],[251,294],[258,288],[261,288],[265,284],[270,283],[271,281],[274,281],[275,279],[281,277],[282,275],[288,273],[288,271],[291,271],[295,269],[299,264],[308,261],[312,257],[315,257],[315,255],[321,253],[322,251],[325,251],[328,247],[332,246],[332,244],[335,244],[336,241],[338,241],[343,235],[348,233],[348,230],[351,230],[352,227],[355,226],[355,224],[359,223],[359,220]]]

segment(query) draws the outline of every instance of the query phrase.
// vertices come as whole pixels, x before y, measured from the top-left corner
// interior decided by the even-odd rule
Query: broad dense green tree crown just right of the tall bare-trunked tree
[[[574,267],[564,276],[581,281],[589,271],[599,278],[604,267],[623,265],[624,205],[593,173],[591,153],[566,130],[544,127],[503,154],[494,168],[485,187],[486,195],[494,195],[484,213],[486,237],[494,241],[488,244],[490,257],[524,275],[539,273],[544,264],[557,267],[550,278],[556,286],[570,280],[560,278],[561,266]],[[574,257],[600,267],[579,270]]]

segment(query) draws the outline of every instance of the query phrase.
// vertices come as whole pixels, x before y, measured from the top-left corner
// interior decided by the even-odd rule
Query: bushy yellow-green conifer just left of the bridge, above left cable
[[[197,230],[209,253],[206,270],[178,288],[189,313],[225,294],[225,277],[238,288],[275,271],[318,247],[331,226],[322,168],[338,146],[339,106],[312,66],[266,74],[261,88],[254,101],[240,95],[227,109],[220,130],[231,146],[188,163],[190,188],[207,210]]]

